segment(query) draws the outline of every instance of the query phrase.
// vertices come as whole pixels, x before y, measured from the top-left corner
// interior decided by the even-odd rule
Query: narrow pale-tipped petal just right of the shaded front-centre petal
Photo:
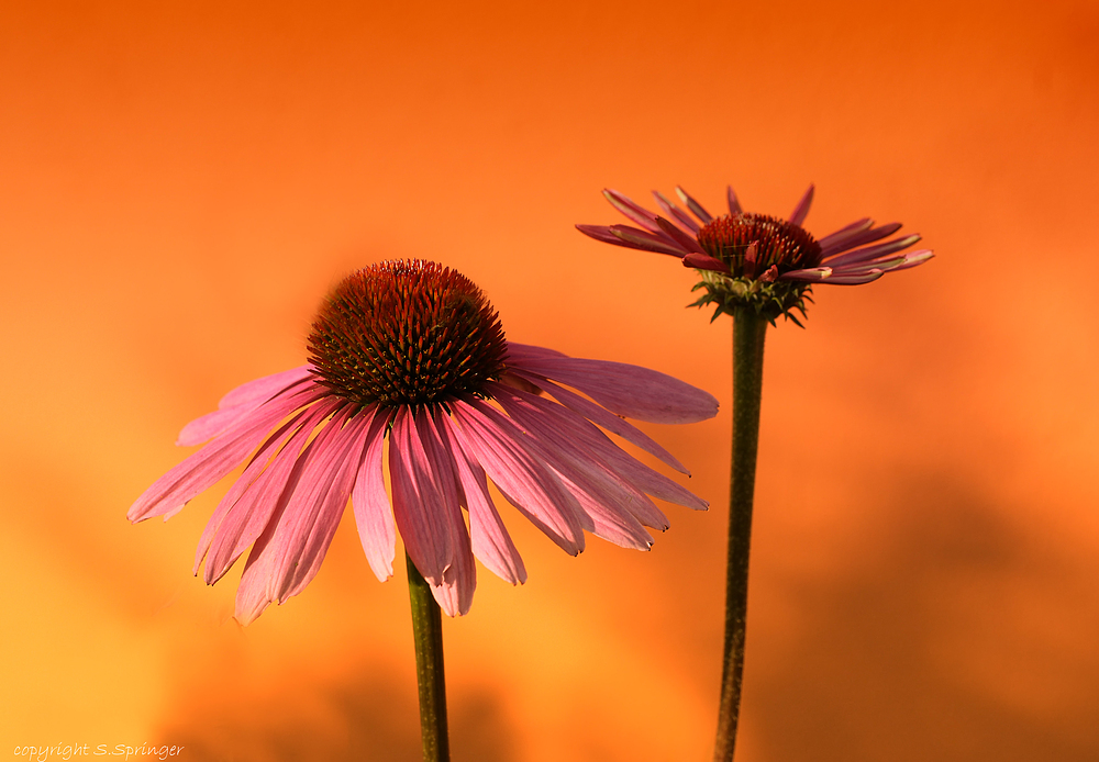
[[[440,416],[440,433],[454,457],[463,501],[469,511],[469,539],[474,556],[492,573],[511,584],[526,582],[526,567],[489,495],[485,469],[465,451],[462,438],[454,430],[449,417]]]

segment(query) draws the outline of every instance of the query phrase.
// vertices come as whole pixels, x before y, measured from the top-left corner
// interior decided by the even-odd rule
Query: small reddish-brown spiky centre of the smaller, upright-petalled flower
[[[800,225],[766,214],[733,214],[710,221],[698,243],[711,257],[729,265],[735,277],[755,278],[771,265],[778,274],[817,267],[821,246]],[[756,245],[755,256],[748,251]]]

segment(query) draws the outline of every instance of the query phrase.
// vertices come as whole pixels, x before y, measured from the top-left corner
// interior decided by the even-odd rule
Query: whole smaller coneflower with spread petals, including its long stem
[[[633,225],[577,225],[597,240],[678,257],[698,270],[693,290],[703,294],[692,306],[714,305],[713,320],[733,317],[733,446],[729,497],[729,547],[725,580],[725,645],[718,713],[715,762],[730,762],[736,743],[744,642],[747,620],[748,549],[763,393],[763,347],[768,325],[785,315],[798,325],[806,316],[814,284],[857,285],[921,265],[929,249],[904,251],[920,236],[890,240],[900,223],[875,226],[866,217],[821,239],[802,223],[813,200],[813,187],[793,208],[789,220],[745,212],[730,187],[729,214],[714,216],[676,188],[687,209],[656,191],[663,214],[651,212],[622,193],[604,190],[607,200]],[[712,322],[712,321],[711,321]]]

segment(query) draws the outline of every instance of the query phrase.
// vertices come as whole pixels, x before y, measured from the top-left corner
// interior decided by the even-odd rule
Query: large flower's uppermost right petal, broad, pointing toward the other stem
[[[578,389],[628,418],[686,424],[718,414],[718,401],[709,392],[639,366],[574,357],[533,358],[513,365]]]

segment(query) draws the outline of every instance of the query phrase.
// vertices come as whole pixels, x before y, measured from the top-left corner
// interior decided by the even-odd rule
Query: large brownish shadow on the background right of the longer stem
[[[790,603],[800,637],[765,679],[746,686],[757,759],[1095,760],[1094,580],[1081,579],[1086,570],[1074,569],[1070,556],[1045,547],[1041,533],[1023,531],[1003,506],[965,484],[913,474],[896,483],[903,491],[891,501],[882,490],[873,540],[881,545],[864,544],[873,558],[798,581]],[[1032,513],[1041,522],[1042,512]],[[1026,620],[1033,607],[1011,605],[1024,585],[1074,623],[1067,652],[1058,653],[1056,634],[1043,635],[1041,621]],[[751,648],[750,636],[750,662]],[[980,660],[984,671],[966,669],[966,659]],[[1041,686],[1059,715],[1041,707],[1040,697],[1011,701],[1020,684]]]

